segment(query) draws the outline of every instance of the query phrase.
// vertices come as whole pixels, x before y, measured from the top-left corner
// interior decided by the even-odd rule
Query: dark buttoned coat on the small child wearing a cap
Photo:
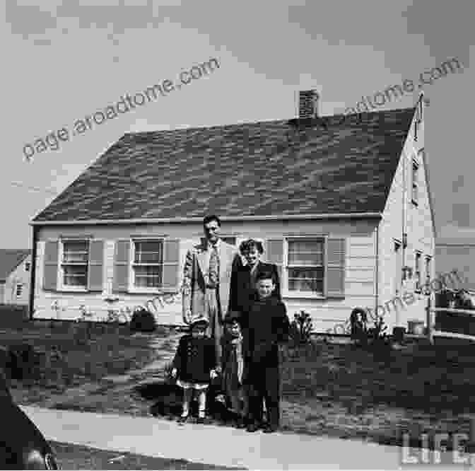
[[[178,378],[190,383],[209,383],[209,373],[216,368],[216,350],[209,337],[201,339],[184,335],[173,359]]]

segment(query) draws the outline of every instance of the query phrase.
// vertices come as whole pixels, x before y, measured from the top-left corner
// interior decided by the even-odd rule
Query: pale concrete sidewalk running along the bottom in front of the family
[[[398,469],[401,448],[116,414],[23,407],[48,440],[250,469]]]

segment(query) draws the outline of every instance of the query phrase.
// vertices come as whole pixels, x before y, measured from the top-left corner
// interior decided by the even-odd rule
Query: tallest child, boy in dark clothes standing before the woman
[[[266,401],[267,424],[264,432],[278,429],[280,391],[278,374],[278,343],[286,342],[290,329],[286,306],[271,296],[275,289],[272,272],[257,276],[257,296],[245,315],[245,362],[248,374],[245,383],[250,389],[250,410],[247,431],[256,431],[262,421],[262,401]]]

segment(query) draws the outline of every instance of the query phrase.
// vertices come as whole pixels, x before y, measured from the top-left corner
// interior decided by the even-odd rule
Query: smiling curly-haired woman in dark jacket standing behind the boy
[[[272,296],[276,296],[279,300],[281,299],[281,287],[276,265],[260,260],[264,253],[262,242],[252,238],[244,240],[240,244],[239,250],[247,263],[242,266],[240,264],[235,266],[231,274],[229,310],[240,311],[245,323],[250,301],[257,293],[255,284],[259,273],[270,272],[274,274],[276,289],[274,289]],[[243,325],[243,327],[246,326]]]

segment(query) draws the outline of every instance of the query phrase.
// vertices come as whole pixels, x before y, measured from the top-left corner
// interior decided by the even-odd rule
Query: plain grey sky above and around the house
[[[310,88],[321,115],[341,113],[452,57],[463,70],[423,86],[430,190],[438,236],[475,241],[475,2],[1,3],[0,248],[30,248],[31,219],[128,132],[285,120]],[[25,144],[213,57],[212,74],[26,160]],[[418,91],[378,109],[414,106]]]

